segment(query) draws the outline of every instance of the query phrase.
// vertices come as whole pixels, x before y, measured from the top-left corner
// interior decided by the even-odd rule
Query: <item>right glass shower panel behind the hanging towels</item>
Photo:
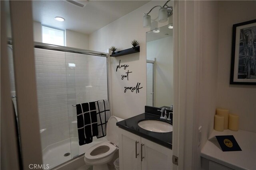
[[[70,87],[75,87],[75,93],[68,95],[72,157],[84,154],[93,145],[106,141],[104,138],[93,137],[92,143],[78,145],[76,107],[74,107],[76,104],[108,99],[106,59],[106,57],[66,53],[67,78],[68,73],[72,72],[75,80],[74,82],[67,81],[68,86],[70,84]],[[73,94],[75,94],[75,100]]]

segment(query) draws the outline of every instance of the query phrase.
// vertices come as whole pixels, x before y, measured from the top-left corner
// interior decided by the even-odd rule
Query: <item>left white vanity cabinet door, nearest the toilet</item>
[[[118,140],[120,170],[140,170],[140,137],[118,128]],[[138,156],[136,156],[136,146]]]

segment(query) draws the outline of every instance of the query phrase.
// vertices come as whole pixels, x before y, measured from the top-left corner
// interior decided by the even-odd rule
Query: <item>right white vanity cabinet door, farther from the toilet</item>
[[[172,170],[172,150],[141,138],[142,170]]]

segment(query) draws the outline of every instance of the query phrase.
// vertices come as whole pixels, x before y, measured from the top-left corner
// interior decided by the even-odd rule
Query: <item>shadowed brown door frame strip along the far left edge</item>
[[[1,12],[1,169],[20,169],[14,109],[11,100],[7,52],[6,3],[0,1]]]

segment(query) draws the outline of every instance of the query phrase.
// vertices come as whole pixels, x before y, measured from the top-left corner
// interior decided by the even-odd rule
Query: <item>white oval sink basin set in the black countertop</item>
[[[147,131],[152,131],[152,132],[165,133],[165,132],[172,131],[171,124],[163,121],[158,121],[158,120],[144,120],[144,121],[140,121],[138,125],[142,129],[145,129]]]

